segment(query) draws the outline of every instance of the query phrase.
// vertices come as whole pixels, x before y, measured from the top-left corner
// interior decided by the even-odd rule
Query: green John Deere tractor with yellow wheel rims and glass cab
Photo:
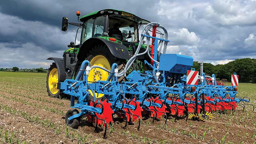
[[[61,30],[67,31],[68,24],[78,26],[77,32],[81,28],[80,43],[71,41],[68,45],[69,49],[64,51],[63,58],[47,59],[54,60],[46,79],[48,95],[51,97],[62,95],[57,83],[64,82],[65,79],[74,79],[83,60],[89,60],[91,66],[98,65],[108,70],[113,63],[117,63],[119,71],[122,71],[139,45],[139,28],[143,24],[150,23],[134,14],[114,9],[104,9],[79,16],[80,12],[77,11],[80,23],[68,22],[68,18],[63,17]],[[142,44],[140,51],[143,52],[145,49],[146,44]],[[147,70],[142,60],[150,61],[150,58],[148,55],[138,56],[130,71]],[[88,81],[106,80],[108,75],[108,72],[94,68],[88,75]],[[118,81],[125,81],[124,76]],[[98,99],[103,96],[97,93],[96,95]]]

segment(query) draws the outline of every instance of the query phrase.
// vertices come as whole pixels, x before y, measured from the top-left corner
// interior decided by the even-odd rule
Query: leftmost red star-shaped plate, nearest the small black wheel
[[[96,104],[97,102],[98,102],[98,100],[95,101],[95,104]],[[100,118],[100,119],[105,120],[107,124],[110,124],[110,122],[113,122],[112,114],[114,113],[114,111],[113,111],[112,108],[110,107],[110,106],[111,106],[111,103],[107,103],[107,99],[105,99],[103,102],[100,101],[100,103],[101,103],[102,106],[103,106],[103,112],[102,112],[102,114],[96,113],[96,116],[97,116],[98,118]],[[90,103],[90,106],[92,106],[92,103]],[[100,104],[97,104],[96,107],[102,108]],[[95,116],[93,117],[93,120],[92,120],[92,116],[91,116],[90,114],[87,114],[86,116],[87,116],[87,118],[88,118],[88,122],[91,122],[91,121],[92,121],[92,122],[96,123],[96,118],[95,118]],[[99,120],[99,119],[98,119],[98,126],[99,126],[99,125],[101,125],[101,126],[104,125],[104,126],[105,126],[105,124],[103,124],[103,120]]]

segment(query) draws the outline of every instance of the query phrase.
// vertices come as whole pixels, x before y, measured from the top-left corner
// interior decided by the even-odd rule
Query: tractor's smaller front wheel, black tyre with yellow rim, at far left
[[[59,80],[59,74],[56,64],[53,62],[47,72],[46,88],[50,97],[59,97],[61,91],[57,89],[57,83]]]

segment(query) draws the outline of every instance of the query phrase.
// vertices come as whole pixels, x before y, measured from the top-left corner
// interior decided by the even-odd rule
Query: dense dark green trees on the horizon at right
[[[200,72],[200,64],[193,62],[193,68]],[[215,74],[216,78],[227,79],[231,81],[231,75],[236,72],[239,75],[239,82],[256,83],[256,59],[236,59],[227,64],[213,65],[210,63],[203,64],[203,72],[211,76]]]

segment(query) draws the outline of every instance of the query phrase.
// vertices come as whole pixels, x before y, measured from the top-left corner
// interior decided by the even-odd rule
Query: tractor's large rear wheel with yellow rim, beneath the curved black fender
[[[111,69],[113,63],[118,65],[118,70],[121,72],[125,68],[125,60],[118,59],[117,57],[113,56],[108,47],[106,45],[97,45],[92,50],[89,51],[85,60],[89,60],[91,66],[98,65],[102,66],[108,70]],[[90,71],[88,75],[88,82],[96,82],[98,80],[107,80],[109,73],[100,69],[94,68]],[[125,81],[124,76],[118,78],[119,82]],[[99,94],[96,98],[97,100],[102,99],[104,95]],[[89,96],[89,99],[93,99],[93,95]]]

